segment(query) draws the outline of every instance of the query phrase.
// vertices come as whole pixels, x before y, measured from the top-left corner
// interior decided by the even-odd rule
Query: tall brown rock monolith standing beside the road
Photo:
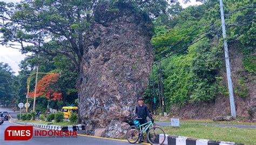
[[[123,6],[112,12],[99,4],[86,33],[79,88],[79,120],[87,134],[111,128],[111,120],[129,122],[148,83],[153,50],[147,23]],[[106,129],[107,130],[107,129]]]

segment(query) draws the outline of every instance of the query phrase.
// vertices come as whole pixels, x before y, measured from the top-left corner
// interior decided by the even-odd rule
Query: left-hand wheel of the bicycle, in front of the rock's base
[[[126,132],[126,139],[130,143],[136,143],[139,140],[139,129],[136,126],[131,126]]]

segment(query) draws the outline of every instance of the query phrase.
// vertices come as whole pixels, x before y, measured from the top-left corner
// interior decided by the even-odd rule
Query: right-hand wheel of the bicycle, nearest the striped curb
[[[163,138],[159,140],[159,136],[163,136]],[[165,141],[164,130],[159,127],[152,127],[149,132],[147,132],[147,141],[151,144],[163,144]]]

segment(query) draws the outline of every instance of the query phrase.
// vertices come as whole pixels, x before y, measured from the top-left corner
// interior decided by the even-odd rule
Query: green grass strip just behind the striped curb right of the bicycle
[[[180,125],[179,128],[174,128],[171,126],[161,128],[163,128],[165,133],[169,135],[187,136],[194,139],[256,144],[256,129],[188,124]]]

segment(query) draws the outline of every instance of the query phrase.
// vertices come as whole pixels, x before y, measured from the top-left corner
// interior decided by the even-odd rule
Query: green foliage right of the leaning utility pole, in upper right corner
[[[237,9],[241,7],[247,7],[246,9],[237,11],[227,19],[228,30],[227,34],[230,36],[230,40],[239,43],[239,50],[243,53],[242,64],[245,70],[250,74],[256,73],[256,56],[255,45],[256,45],[256,27],[255,27],[255,15],[254,8],[250,8],[251,5],[255,5],[255,2],[245,0],[240,3],[231,4],[229,9]]]

